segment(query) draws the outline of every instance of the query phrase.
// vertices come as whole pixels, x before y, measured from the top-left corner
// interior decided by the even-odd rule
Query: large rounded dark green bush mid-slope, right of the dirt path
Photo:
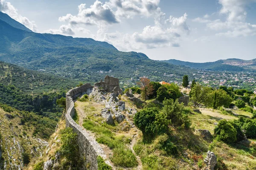
[[[134,115],[134,124],[144,136],[157,136],[166,133],[169,121],[157,108],[145,108]]]

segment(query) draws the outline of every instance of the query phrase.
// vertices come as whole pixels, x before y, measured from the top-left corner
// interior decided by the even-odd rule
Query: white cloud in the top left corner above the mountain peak
[[[33,21],[30,21],[27,17],[23,17],[20,14],[18,14],[17,9],[14,6],[12,6],[11,3],[6,2],[5,0],[0,0],[0,11],[8,14],[14,20],[17,20],[18,22],[22,23],[32,31],[38,32],[38,29],[35,23]]]

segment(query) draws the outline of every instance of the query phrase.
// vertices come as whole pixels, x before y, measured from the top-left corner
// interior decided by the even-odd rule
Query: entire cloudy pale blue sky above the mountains
[[[90,37],[151,59],[256,58],[256,0],[0,0],[32,31]]]

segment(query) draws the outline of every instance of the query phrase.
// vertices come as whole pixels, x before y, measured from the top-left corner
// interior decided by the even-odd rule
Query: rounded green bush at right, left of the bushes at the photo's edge
[[[225,143],[233,143],[237,141],[236,129],[225,119],[218,122],[217,127],[214,129],[214,134],[217,135],[218,140]]]

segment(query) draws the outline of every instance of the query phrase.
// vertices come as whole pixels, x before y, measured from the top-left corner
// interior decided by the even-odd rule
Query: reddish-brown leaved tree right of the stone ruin
[[[147,100],[148,96],[153,94],[153,86],[149,84],[150,79],[146,77],[140,77],[140,82],[137,84],[141,86],[141,96],[144,100]]]

